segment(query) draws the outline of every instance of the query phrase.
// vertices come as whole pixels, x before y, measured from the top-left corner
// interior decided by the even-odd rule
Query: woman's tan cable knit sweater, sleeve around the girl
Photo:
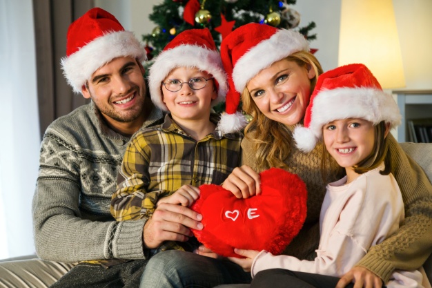
[[[250,135],[253,138],[253,133]],[[376,273],[384,282],[389,281],[395,269],[418,269],[432,252],[432,185],[420,166],[404,153],[392,135],[389,137],[393,165],[391,173],[402,191],[405,222],[395,235],[372,247],[357,262],[357,265]],[[288,245],[284,254],[313,260],[320,240],[320,209],[326,193],[320,171],[322,144],[307,154],[291,144],[293,151],[284,168],[299,175],[306,183],[308,214],[302,231]],[[261,172],[257,169],[255,159],[253,143],[245,137],[242,142],[242,164]],[[330,179],[329,182],[334,180]]]

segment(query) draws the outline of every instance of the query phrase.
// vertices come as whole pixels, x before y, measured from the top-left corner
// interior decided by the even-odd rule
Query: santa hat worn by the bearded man
[[[101,8],[88,10],[70,24],[67,37],[61,68],[75,93],[81,93],[92,74],[114,58],[146,60],[146,50],[133,33],[125,31],[113,15]]]

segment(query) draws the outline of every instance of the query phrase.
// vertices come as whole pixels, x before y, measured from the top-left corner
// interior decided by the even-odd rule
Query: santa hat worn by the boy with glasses
[[[168,111],[168,108],[162,100],[161,83],[177,67],[195,67],[213,75],[217,84],[217,98],[212,105],[224,101],[226,73],[208,28],[184,30],[155,58],[150,68],[148,86],[153,103],[164,111]]]

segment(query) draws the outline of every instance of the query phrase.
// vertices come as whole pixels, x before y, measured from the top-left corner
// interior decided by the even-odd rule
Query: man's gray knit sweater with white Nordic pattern
[[[162,112],[154,108],[143,127],[162,119]],[[41,143],[32,204],[40,258],[60,262],[145,258],[146,220],[115,222],[110,214],[129,140],[108,128],[92,103],[50,124]]]

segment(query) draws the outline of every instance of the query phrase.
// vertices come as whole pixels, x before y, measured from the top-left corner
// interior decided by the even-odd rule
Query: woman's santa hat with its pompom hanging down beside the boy
[[[237,111],[240,93],[259,71],[294,52],[308,50],[308,41],[293,30],[248,23],[230,32],[221,44],[222,63],[228,74],[228,93],[219,129],[230,133],[246,126],[246,119]]]

